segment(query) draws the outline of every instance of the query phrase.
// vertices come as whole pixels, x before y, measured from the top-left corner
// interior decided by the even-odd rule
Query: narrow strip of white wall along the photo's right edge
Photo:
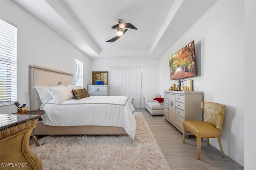
[[[245,1],[244,169],[256,169],[256,1]]]

